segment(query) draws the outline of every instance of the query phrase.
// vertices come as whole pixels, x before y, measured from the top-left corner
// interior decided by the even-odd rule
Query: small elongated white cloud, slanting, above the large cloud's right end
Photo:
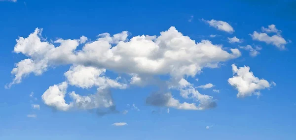
[[[226,23],[224,21],[216,21],[216,20],[207,21],[204,19],[201,19],[201,20],[205,23],[208,23],[211,27],[217,28],[219,30],[223,30],[223,31],[226,31],[229,33],[234,32],[234,29],[228,23]]]

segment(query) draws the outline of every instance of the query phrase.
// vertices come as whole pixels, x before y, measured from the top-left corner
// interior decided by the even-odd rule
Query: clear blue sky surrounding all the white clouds
[[[219,30],[202,19],[224,21],[235,31]],[[284,50],[252,39],[250,34],[269,25],[281,30],[279,36],[287,41]],[[295,0],[0,0],[0,140],[296,140],[295,25]],[[210,40],[226,50],[241,52],[240,57],[223,61],[218,68],[205,67],[195,77],[185,76],[195,86],[215,85],[198,91],[213,96],[216,108],[170,108],[167,113],[167,107],[146,104],[156,87],[130,86],[111,89],[116,110],[127,110],[127,114],[55,110],[44,104],[41,95],[49,86],[65,81],[70,64],[48,67],[39,76],[31,73],[21,83],[4,88],[14,78],[10,72],[15,64],[28,58],[13,52],[16,39],[27,38],[35,28],[43,29],[42,37],[48,42],[82,35],[91,42],[105,32],[128,31],[129,39],[143,34],[159,36],[172,26],[196,43]],[[241,42],[229,43],[227,37],[234,36]],[[253,57],[239,48],[246,45],[261,47],[260,54]],[[261,89],[259,97],[238,98],[238,90],[227,82],[233,76],[231,64],[249,66],[255,77],[276,86]],[[120,74],[107,69],[106,75],[115,79]],[[74,90],[87,95],[96,88],[69,86],[67,92]],[[183,99],[179,91],[172,94],[180,102],[193,101]],[[65,99],[71,102],[68,94]],[[127,125],[112,125],[115,122]]]

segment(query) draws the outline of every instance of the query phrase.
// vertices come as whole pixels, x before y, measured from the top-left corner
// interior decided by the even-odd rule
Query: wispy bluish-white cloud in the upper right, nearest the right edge
[[[267,33],[254,31],[253,34],[250,34],[252,39],[274,45],[280,49],[285,49],[285,45],[288,42],[281,36],[281,31],[276,29],[275,25],[270,25],[268,28],[262,27],[262,31],[267,33],[277,32],[277,34],[269,36]]]

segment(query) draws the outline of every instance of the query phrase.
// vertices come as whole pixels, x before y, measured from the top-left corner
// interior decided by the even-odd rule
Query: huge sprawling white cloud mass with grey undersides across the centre
[[[194,77],[204,67],[215,68],[219,62],[241,56],[238,49],[227,52],[208,40],[196,43],[175,27],[160,32],[159,36],[142,35],[130,39],[128,31],[112,36],[102,33],[95,41],[89,41],[85,36],[79,39],[60,38],[54,41],[58,46],[42,38],[41,32],[42,29],[36,28],[27,38],[16,40],[14,52],[28,58],[16,63],[11,71],[15,77],[6,88],[21,83],[31,73],[41,75],[52,67],[71,64],[64,74],[66,81],[50,86],[42,95],[46,105],[61,111],[111,108],[114,102],[108,88],[125,89],[130,84],[145,86],[157,82],[167,90],[180,91],[184,98],[193,98],[196,103],[180,103],[170,92],[163,92],[159,96],[165,97],[164,103],[154,104],[157,101],[153,101],[155,95],[151,94],[147,99],[150,105],[185,110],[212,108],[216,106],[213,97],[199,93],[184,77]],[[79,45],[83,46],[81,50],[77,49]],[[105,76],[106,70],[126,74],[125,78],[130,80],[120,83],[118,80],[121,77],[110,79]],[[170,80],[163,82],[160,75],[169,75]],[[66,102],[69,85],[80,88],[94,86],[97,93],[81,96],[73,91],[69,93],[72,101]]]

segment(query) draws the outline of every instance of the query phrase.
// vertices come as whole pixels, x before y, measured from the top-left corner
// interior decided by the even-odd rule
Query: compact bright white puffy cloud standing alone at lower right
[[[259,90],[271,86],[266,80],[255,77],[253,72],[250,72],[250,67],[244,66],[238,69],[234,64],[231,66],[233,77],[228,79],[228,83],[238,90],[237,97],[259,96]]]

